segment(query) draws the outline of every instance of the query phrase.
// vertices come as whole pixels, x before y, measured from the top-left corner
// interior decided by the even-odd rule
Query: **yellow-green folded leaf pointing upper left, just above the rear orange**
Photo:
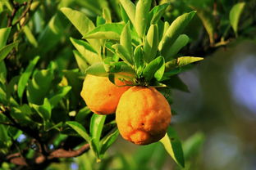
[[[84,59],[89,63],[89,65],[93,65],[101,61],[101,57],[97,54],[93,47],[89,45],[88,42],[84,40],[78,40],[75,38],[71,38],[72,44],[75,48],[80,52],[80,54],[84,57]]]

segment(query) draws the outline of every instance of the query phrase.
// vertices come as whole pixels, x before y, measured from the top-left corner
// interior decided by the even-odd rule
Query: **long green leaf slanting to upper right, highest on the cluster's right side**
[[[169,56],[170,46],[175,42],[176,38],[183,32],[185,27],[190,23],[190,20],[194,17],[195,11],[190,13],[185,13],[174,20],[170,27],[167,29],[166,33],[163,35],[162,40],[159,43],[159,51],[161,51],[162,56]]]

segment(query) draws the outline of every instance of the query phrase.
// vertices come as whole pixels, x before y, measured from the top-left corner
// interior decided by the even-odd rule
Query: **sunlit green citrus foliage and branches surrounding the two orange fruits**
[[[107,166],[104,153],[119,136],[115,115],[93,114],[82,101],[85,74],[114,83],[132,73],[137,85],[162,87],[171,104],[171,89],[189,92],[178,74],[191,63],[255,34],[255,7],[254,0],[0,1],[2,168],[47,168],[88,150]],[[182,149],[171,127],[161,140],[180,168],[202,141],[195,134]]]

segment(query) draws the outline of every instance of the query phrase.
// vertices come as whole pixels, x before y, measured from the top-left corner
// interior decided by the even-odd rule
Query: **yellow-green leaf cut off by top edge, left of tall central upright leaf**
[[[126,11],[127,16],[129,16],[131,23],[135,25],[135,11],[136,11],[135,4],[130,0],[120,0],[120,2],[121,2],[121,6]]]

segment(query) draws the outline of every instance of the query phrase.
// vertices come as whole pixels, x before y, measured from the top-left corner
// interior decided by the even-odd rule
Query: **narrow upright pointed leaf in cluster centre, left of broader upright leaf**
[[[130,58],[132,56],[132,46],[131,46],[131,35],[130,35],[130,23],[128,22],[121,32],[120,38],[121,46],[125,47],[126,51],[128,51]]]

